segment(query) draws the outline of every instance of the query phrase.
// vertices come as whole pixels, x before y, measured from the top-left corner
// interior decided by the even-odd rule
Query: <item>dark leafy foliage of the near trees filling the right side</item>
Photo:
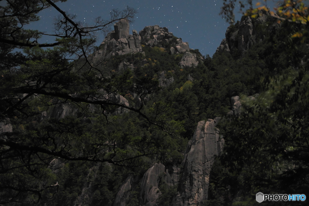
[[[243,112],[231,118],[223,130],[226,146],[221,160],[231,177],[237,178],[228,184],[239,191],[233,195],[232,205],[256,204],[257,192],[307,195],[308,164],[303,160],[308,155],[304,123],[308,116],[308,62],[304,60],[308,49],[286,35],[301,27],[284,26],[266,32],[265,39],[240,60],[249,66],[252,60],[247,57],[260,59],[255,63],[260,94],[252,99],[244,93]]]

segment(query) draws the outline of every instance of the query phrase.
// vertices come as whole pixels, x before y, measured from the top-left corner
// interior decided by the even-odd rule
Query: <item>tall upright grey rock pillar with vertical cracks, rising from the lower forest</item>
[[[207,200],[211,166],[215,156],[222,152],[223,145],[224,139],[219,137],[219,130],[213,119],[198,122],[184,155],[180,191],[174,205],[199,205]]]

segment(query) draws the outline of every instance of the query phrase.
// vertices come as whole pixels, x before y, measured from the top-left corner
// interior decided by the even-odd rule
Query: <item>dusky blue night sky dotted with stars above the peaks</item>
[[[63,11],[76,15],[76,20],[91,24],[101,16],[108,19],[112,9],[125,9],[126,6],[137,10],[132,29],[141,31],[145,26],[159,25],[167,27],[174,36],[189,43],[191,49],[199,49],[202,55],[212,56],[225,38],[229,26],[219,15],[223,0],[68,0],[58,2]],[[239,9],[236,11],[239,11]],[[54,9],[45,9],[39,14],[40,20],[32,22],[28,28],[42,32],[53,33],[53,19],[59,13]],[[235,13],[235,19],[240,20],[240,13]],[[112,27],[113,29],[113,27]],[[98,33],[97,45],[104,39],[104,34]],[[53,37],[44,37],[39,43],[52,43]]]

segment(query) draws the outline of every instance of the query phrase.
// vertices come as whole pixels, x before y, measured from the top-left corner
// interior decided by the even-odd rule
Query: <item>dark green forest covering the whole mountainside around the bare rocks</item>
[[[83,27],[57,1],[7,2],[0,7],[0,205],[183,205],[176,200],[188,142],[198,122],[216,117],[225,143],[209,171],[208,197],[186,205],[258,205],[258,192],[309,197],[306,22],[252,10],[210,57],[181,52],[187,43],[159,26],[118,40],[111,32],[93,46],[95,31],[132,19],[129,7]],[[44,34],[22,27],[50,6],[62,15],[57,42],[38,44]],[[116,54],[125,44],[132,49],[133,39],[135,50]],[[235,96],[241,106],[233,113]],[[165,169],[150,204],[142,177],[155,164]],[[180,183],[167,182],[167,168]]]

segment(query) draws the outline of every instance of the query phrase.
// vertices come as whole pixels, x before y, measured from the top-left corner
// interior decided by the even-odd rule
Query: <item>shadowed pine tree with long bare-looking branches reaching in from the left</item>
[[[0,204],[53,197],[61,186],[50,167],[57,159],[142,167],[146,157],[165,154],[164,142],[181,131],[167,105],[145,108],[152,85],[134,86],[132,71],[91,55],[98,31],[132,21],[136,11],[114,9],[109,19],[83,24],[58,2],[65,0],[7,0],[0,7]],[[55,33],[24,29],[50,7],[57,11]],[[55,41],[40,43],[43,36]],[[117,101],[128,90],[139,105]],[[115,115],[119,108],[126,112]]]

